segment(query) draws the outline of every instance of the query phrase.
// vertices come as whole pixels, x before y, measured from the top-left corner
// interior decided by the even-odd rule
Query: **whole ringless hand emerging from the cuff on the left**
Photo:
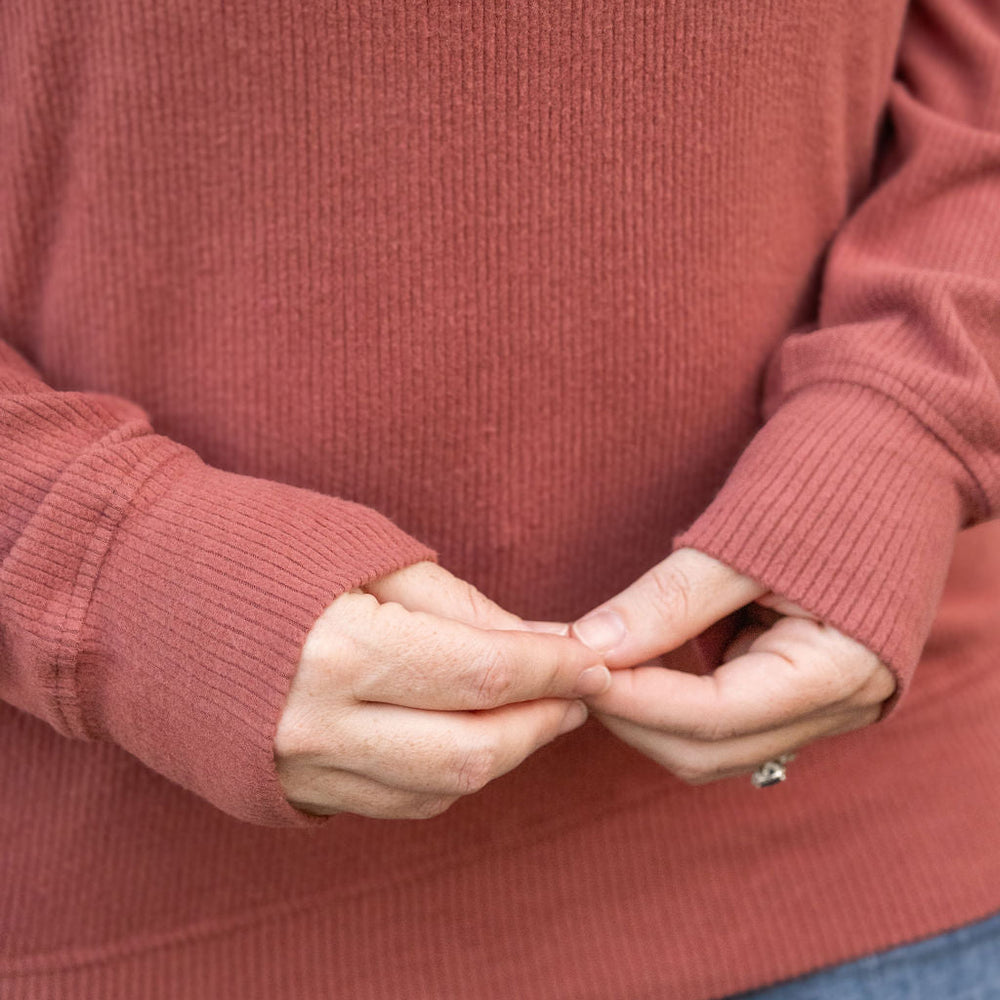
[[[579,726],[611,682],[575,639],[521,620],[434,563],[336,598],[306,638],[278,723],[304,812],[418,819]]]

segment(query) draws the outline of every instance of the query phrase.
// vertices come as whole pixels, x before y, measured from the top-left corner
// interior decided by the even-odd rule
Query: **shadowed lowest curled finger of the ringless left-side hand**
[[[430,819],[451,806],[457,796],[388,788],[370,778],[335,768],[310,769],[289,801],[314,816],[352,813],[373,819]]]

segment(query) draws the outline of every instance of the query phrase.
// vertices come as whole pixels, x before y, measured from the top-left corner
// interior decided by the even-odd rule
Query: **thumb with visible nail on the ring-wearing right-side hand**
[[[696,549],[678,549],[572,626],[609,667],[644,663],[768,592]]]

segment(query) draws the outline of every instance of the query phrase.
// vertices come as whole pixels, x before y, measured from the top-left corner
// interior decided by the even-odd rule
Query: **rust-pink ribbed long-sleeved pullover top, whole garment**
[[[1000,908],[996,0],[4,3],[0,335],[5,998],[706,1000]],[[769,792],[592,722],[284,801],[345,589],[680,545],[905,697]]]

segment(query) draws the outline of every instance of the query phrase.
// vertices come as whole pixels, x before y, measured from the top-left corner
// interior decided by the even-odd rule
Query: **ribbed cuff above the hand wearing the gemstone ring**
[[[673,547],[727,563],[863,643],[896,674],[893,708],[941,597],[960,474],[887,396],[815,384],[767,421]]]

